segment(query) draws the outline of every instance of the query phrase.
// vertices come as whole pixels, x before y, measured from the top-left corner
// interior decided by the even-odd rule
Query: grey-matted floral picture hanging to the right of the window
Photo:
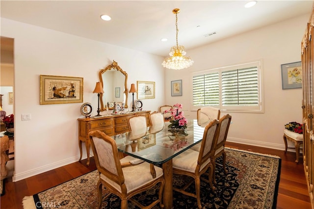
[[[302,64],[291,62],[281,65],[283,89],[302,88]]]

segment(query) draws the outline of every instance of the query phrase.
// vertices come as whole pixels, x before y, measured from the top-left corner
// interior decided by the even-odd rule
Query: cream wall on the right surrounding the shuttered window
[[[302,89],[282,89],[281,64],[301,61],[301,40],[310,14],[266,26],[194,50],[187,55],[194,64],[180,71],[167,70],[165,89],[171,89],[171,80],[183,80],[183,96],[171,97],[167,104],[183,103],[191,110],[191,73],[240,62],[263,59],[264,113],[230,113],[227,141],[284,149],[284,125],[291,121],[302,123]],[[195,111],[186,114],[196,118]],[[293,146],[292,146],[293,147]]]

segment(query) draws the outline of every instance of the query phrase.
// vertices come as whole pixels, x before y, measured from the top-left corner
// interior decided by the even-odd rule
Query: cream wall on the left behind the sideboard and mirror
[[[83,102],[93,104],[98,73],[115,60],[136,80],[155,81],[164,92],[162,57],[137,52],[58,31],[1,19],[1,36],[14,38],[15,174],[14,181],[78,161],[78,118],[82,103],[40,105],[40,75],[83,78]],[[142,100],[144,110],[157,110],[164,95]],[[132,100],[129,94],[129,101]],[[22,121],[21,114],[31,120]],[[83,149],[83,158],[86,158]]]

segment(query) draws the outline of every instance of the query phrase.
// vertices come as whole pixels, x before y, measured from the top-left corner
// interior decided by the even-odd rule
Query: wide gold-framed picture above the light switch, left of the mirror
[[[83,102],[83,78],[40,75],[40,104]]]

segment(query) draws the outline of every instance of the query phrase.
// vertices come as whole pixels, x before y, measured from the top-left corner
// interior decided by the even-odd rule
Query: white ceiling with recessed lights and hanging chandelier
[[[309,14],[310,0],[1,0],[1,18],[168,56],[178,42],[188,50],[286,19]],[[111,16],[103,21],[100,15]],[[216,32],[205,37],[206,34]],[[167,42],[161,42],[167,38]]]

